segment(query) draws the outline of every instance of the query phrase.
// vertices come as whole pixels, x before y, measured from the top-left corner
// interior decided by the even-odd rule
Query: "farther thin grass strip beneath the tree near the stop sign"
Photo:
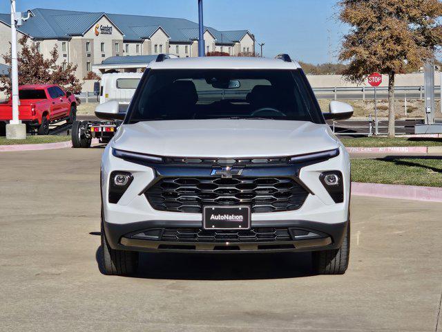
[[[437,147],[442,146],[442,138],[387,138],[361,137],[341,138],[346,147]]]

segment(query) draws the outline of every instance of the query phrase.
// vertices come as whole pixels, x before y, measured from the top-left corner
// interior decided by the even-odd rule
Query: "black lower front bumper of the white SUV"
[[[104,231],[110,246],[118,250],[143,252],[301,252],[340,248],[347,232],[348,222],[318,223],[314,221],[258,221],[252,229],[287,229],[290,234],[285,241],[238,241],[213,240],[170,241],[162,237],[164,230],[199,230],[201,223],[176,221],[142,221],[129,224],[111,224],[104,221]],[[135,237],[143,231],[159,230],[157,239]],[[295,232],[296,230],[297,232]],[[297,235],[302,232],[303,235]],[[231,233],[230,233],[231,234]]]

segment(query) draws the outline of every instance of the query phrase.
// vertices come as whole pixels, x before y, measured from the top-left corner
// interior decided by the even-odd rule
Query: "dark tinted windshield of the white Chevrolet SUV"
[[[126,123],[151,120],[268,119],[323,123],[300,70],[151,70]]]

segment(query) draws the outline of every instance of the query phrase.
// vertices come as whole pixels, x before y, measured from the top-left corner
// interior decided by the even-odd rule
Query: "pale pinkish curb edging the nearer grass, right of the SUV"
[[[442,202],[441,187],[415,185],[383,185],[380,183],[352,183],[352,195],[408,199],[411,201]]]

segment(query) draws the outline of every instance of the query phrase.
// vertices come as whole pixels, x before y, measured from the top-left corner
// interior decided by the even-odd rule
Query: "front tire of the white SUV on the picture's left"
[[[137,272],[137,268],[138,252],[111,248],[106,239],[102,221],[102,272],[105,275],[133,275]]]

